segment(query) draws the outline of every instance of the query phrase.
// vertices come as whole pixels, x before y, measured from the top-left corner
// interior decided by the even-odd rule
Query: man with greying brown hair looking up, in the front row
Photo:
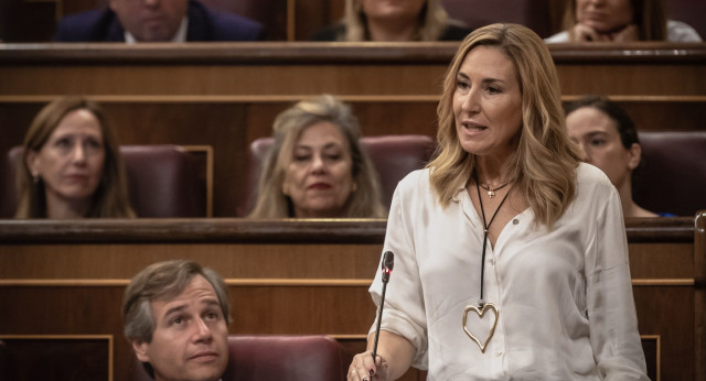
[[[228,364],[228,296],[213,270],[185,260],[140,271],[125,291],[125,336],[156,380],[218,380]]]

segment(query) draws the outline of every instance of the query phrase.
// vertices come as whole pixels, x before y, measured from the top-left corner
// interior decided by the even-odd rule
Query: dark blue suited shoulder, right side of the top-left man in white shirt
[[[242,15],[214,11],[196,0],[189,1],[189,41],[259,41],[264,26]]]

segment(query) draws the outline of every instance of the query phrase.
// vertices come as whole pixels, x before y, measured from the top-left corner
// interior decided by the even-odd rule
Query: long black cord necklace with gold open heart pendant
[[[510,192],[507,192],[505,194],[505,196],[503,197],[503,199],[500,202],[500,205],[498,206],[498,209],[495,209],[495,213],[493,213],[493,215],[490,218],[490,221],[486,222],[485,221],[485,210],[483,209],[483,200],[481,199],[481,189],[479,186],[479,182],[478,182],[478,176],[475,175],[475,172],[473,172],[473,177],[475,178],[475,192],[478,192],[478,203],[481,206],[481,216],[483,217],[483,251],[481,254],[481,297],[478,302],[478,306],[475,305],[468,305],[466,306],[466,308],[463,309],[463,319],[462,319],[462,324],[463,324],[463,331],[466,333],[466,335],[468,335],[468,337],[471,338],[471,340],[475,341],[475,344],[478,344],[478,346],[481,349],[481,353],[485,353],[485,348],[488,347],[488,342],[490,342],[490,339],[493,338],[493,334],[495,334],[495,327],[498,326],[498,318],[500,317],[500,309],[498,309],[498,306],[495,306],[493,303],[486,303],[483,300],[483,284],[484,284],[484,275],[485,275],[485,249],[488,247],[488,232],[490,229],[490,226],[493,224],[493,220],[495,220],[495,216],[498,216],[498,211],[500,211],[500,208],[503,207],[503,204],[505,204],[505,200],[507,199],[507,196],[510,195]],[[510,182],[501,185],[500,187],[495,188],[500,189],[502,187],[504,187],[505,185],[510,184]],[[484,188],[485,189],[485,188]],[[492,198],[495,195],[493,194],[491,196],[491,190],[488,192],[488,195]],[[478,314],[479,318],[483,318],[483,316],[485,315],[486,312],[493,312],[493,314],[495,315],[495,320],[493,322],[493,326],[490,329],[490,333],[488,334],[488,338],[485,340],[483,340],[481,342],[481,340],[473,335],[473,333],[471,333],[468,329],[468,326],[466,325],[467,319],[468,319],[468,313],[469,312],[473,312],[475,314]]]

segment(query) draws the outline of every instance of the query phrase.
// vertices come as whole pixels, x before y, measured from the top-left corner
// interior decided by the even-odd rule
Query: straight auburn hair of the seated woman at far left
[[[46,105],[34,117],[24,137],[24,152],[17,171],[20,202],[14,215],[15,218],[46,217],[44,181],[33,178],[28,166],[28,155],[31,151],[40,152],[64,117],[75,110],[88,110],[98,119],[105,148],[103,174],[85,217],[135,217],[128,200],[125,167],[120,159],[119,145],[101,109],[97,104],[82,97],[62,97]]]

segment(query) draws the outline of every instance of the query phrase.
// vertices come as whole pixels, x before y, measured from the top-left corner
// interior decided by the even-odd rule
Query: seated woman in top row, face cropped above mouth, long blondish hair
[[[471,30],[449,19],[441,0],[345,0],[341,22],[313,41],[460,41]]]

